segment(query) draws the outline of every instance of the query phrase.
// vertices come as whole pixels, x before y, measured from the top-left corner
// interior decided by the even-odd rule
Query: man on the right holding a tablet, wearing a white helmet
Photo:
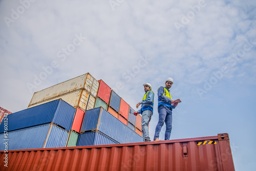
[[[165,87],[160,87],[158,89],[157,95],[159,120],[156,126],[154,141],[159,141],[159,134],[164,122],[166,125],[164,140],[170,139],[170,132],[172,131],[173,121],[172,111],[178,105],[178,102],[172,100],[172,96],[170,96],[169,89],[173,86],[173,83],[173,78],[167,78],[165,81]]]

